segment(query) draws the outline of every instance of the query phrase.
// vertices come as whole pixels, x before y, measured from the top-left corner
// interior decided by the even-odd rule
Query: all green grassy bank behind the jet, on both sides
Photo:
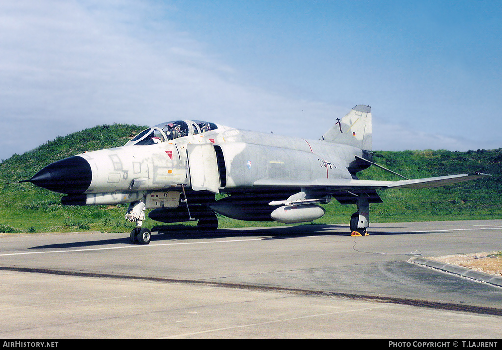
[[[30,179],[44,166],[84,151],[121,146],[144,126],[102,125],[53,141],[24,154],[15,154],[0,163],[0,232],[49,232],[92,230],[127,232],[133,224],[124,220],[127,205],[61,205],[62,195],[30,183],[7,184]],[[492,174],[480,179],[435,189],[381,191],[384,203],[370,205],[371,222],[424,220],[468,220],[502,218],[502,148],[451,152],[376,151],[374,162],[410,179],[428,178],[480,171]],[[358,173],[360,179],[399,180],[397,176],[371,166]],[[342,206],[333,201],[325,205],[326,215],[315,223],[347,224],[355,205]],[[145,220],[145,227],[158,223]],[[259,223],[264,225],[267,223]],[[257,225],[219,217],[219,227]],[[270,225],[282,225],[270,223]]]

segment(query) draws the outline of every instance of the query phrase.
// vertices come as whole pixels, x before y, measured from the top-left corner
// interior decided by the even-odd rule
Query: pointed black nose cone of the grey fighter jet
[[[87,191],[91,180],[89,162],[75,155],[47,165],[37,172],[30,182],[49,191],[80,195]]]

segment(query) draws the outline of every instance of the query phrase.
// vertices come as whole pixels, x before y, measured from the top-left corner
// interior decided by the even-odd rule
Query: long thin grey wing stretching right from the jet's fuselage
[[[351,180],[351,179],[317,179],[310,182],[260,179],[255,181],[256,187],[295,187],[315,188],[323,187],[333,191],[351,190],[385,190],[391,188],[430,189],[433,187],[451,185],[463,181],[489,177],[491,175],[476,172],[474,174],[448,175],[434,178],[381,181],[381,180]]]

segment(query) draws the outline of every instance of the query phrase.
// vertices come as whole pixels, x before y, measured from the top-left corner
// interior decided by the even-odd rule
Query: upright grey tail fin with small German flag
[[[329,129],[321,140],[371,150],[370,107],[359,104]]]

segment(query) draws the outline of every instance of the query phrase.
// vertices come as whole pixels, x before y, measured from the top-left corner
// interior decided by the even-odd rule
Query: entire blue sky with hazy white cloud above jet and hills
[[[2,2],[0,159],[105,123],[315,139],[356,104],[375,150],[502,147],[501,4]]]

